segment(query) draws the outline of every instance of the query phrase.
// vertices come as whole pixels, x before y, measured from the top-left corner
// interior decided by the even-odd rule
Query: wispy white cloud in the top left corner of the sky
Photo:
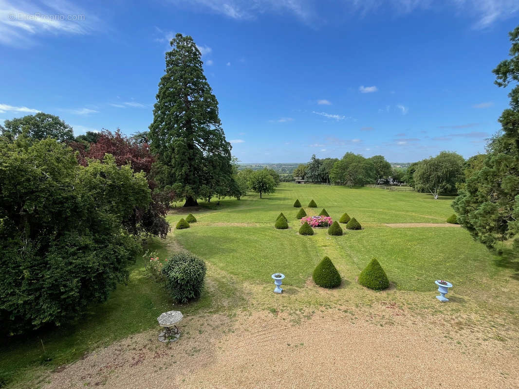
[[[97,17],[67,0],[0,0],[0,44],[27,47],[38,35],[86,35],[100,26]]]

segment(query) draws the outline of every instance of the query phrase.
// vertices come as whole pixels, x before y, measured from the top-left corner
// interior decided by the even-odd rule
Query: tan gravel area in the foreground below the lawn
[[[187,318],[179,341],[139,334],[58,369],[47,388],[519,387],[515,340],[453,338],[444,318],[387,308],[373,308],[386,324],[335,308],[299,324],[286,312]]]

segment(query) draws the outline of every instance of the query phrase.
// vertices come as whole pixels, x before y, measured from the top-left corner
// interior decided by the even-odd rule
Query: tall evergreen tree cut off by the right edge
[[[519,252],[519,26],[509,35],[511,58],[493,73],[498,87],[515,85],[508,94],[510,108],[501,114],[501,130],[489,141],[486,155],[468,166],[453,208],[474,239],[494,249],[498,242],[513,240]]]

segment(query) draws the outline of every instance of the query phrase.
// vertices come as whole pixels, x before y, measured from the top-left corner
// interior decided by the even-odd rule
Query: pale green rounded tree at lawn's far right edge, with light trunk
[[[449,151],[421,161],[413,175],[415,189],[431,193],[434,199],[438,199],[442,192],[453,192],[456,185],[465,180],[464,163],[462,156]]]

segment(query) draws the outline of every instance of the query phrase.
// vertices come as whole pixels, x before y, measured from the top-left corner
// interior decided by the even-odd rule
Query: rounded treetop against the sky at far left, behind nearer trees
[[[69,124],[65,123],[58,116],[43,112],[6,120],[4,126],[0,129],[2,131],[1,135],[5,136],[9,141],[15,140],[20,135],[36,141],[48,137],[57,139],[60,142],[72,141],[74,139],[74,132]]]

